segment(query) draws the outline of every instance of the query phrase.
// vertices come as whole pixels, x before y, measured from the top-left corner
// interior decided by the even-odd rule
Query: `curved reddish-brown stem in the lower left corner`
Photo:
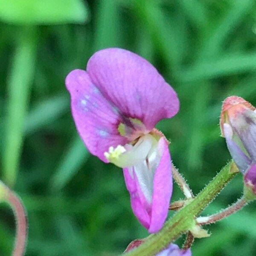
[[[27,239],[26,210],[20,198],[15,195],[2,181],[0,181],[0,202],[4,201],[12,207],[16,219],[16,239],[13,256],[23,256]]]

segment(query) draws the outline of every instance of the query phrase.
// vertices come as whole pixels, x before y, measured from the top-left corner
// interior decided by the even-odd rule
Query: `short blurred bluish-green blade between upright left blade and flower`
[[[29,111],[25,122],[25,133],[29,134],[49,124],[67,111],[69,99],[65,95],[53,96],[41,101]]]

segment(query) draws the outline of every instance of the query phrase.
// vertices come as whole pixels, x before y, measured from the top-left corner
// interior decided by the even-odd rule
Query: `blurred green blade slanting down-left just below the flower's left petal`
[[[52,188],[62,189],[78,172],[89,157],[89,152],[80,137],[72,141],[52,177]]]

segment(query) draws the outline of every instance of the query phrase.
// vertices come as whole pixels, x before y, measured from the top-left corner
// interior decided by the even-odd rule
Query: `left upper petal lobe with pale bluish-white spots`
[[[92,154],[107,162],[104,152],[110,146],[127,143],[127,139],[120,136],[117,130],[122,117],[93,84],[86,71],[70,72],[66,86],[71,95],[73,118],[82,140]]]

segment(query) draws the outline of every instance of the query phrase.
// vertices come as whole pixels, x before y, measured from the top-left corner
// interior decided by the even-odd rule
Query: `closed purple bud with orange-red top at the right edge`
[[[220,125],[245,185],[256,194],[256,109],[243,98],[230,96],[223,102]]]

